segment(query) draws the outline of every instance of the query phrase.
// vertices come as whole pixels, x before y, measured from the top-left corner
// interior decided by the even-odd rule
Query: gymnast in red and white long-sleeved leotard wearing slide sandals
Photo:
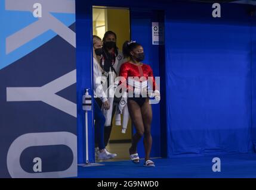
[[[151,122],[152,107],[149,102],[148,83],[152,79],[152,90],[156,98],[160,97],[160,93],[156,90],[155,78],[153,77],[152,68],[143,64],[144,60],[143,47],[136,42],[125,42],[123,46],[125,58],[129,61],[122,64],[119,77],[122,77],[121,84],[128,91],[127,105],[132,123],[135,126],[136,133],[132,136],[132,145],[129,148],[131,160],[139,163],[140,159],[137,153],[137,144],[144,135],[145,162],[144,166],[155,166],[150,160],[150,151],[152,147]],[[133,96],[131,96],[131,94]]]

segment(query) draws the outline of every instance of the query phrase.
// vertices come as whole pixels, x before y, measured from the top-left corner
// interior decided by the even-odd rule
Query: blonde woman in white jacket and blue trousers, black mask
[[[107,96],[103,91],[101,85],[101,72],[102,69],[98,64],[102,55],[102,42],[100,37],[93,36],[93,85],[94,85],[94,98],[99,98],[102,102],[103,109],[108,110],[110,105],[107,100]],[[94,119],[95,119],[95,143],[98,145],[97,159],[106,160],[112,158],[112,154],[109,153],[104,144],[104,124],[105,117],[101,112],[100,106],[94,99]]]

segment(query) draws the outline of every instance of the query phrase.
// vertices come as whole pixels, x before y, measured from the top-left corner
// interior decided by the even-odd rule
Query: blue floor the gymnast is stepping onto
[[[221,159],[221,172],[212,172],[212,158]],[[78,178],[256,178],[256,154],[155,159],[156,167],[131,161],[78,167]]]

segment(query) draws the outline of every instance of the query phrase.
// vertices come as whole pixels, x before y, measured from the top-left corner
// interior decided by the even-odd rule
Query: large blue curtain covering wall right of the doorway
[[[168,157],[252,152],[247,7],[178,6],[165,20]]]

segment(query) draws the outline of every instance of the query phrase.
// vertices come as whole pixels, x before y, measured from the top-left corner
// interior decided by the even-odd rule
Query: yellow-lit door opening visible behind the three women
[[[103,39],[106,31],[116,33],[116,45],[122,50],[126,40],[130,39],[129,9],[115,7],[92,7],[92,33]],[[121,116],[122,123],[122,116]],[[128,160],[128,148],[131,146],[132,127],[131,119],[128,121],[127,131],[122,133],[122,126],[116,125],[115,115],[112,121],[112,130],[110,134],[107,150],[110,153],[118,154],[114,159],[104,160],[104,162],[113,162],[119,160]],[[102,162],[103,160],[96,160]]]

